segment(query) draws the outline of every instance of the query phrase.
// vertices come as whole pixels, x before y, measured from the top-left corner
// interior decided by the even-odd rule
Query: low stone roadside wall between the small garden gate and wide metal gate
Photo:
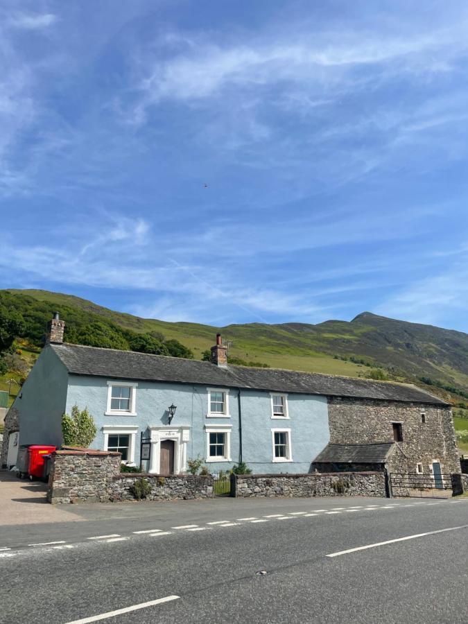
[[[382,472],[245,474],[237,476],[237,496],[385,496],[385,476]]]

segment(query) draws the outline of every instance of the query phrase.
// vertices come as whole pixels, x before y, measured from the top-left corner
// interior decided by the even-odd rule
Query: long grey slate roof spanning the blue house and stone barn
[[[134,381],[197,383],[226,388],[252,388],[308,395],[361,397],[388,401],[415,401],[447,405],[414,385],[352,379],[279,368],[220,367],[210,362],[185,360],[83,345],[50,345],[69,373]]]

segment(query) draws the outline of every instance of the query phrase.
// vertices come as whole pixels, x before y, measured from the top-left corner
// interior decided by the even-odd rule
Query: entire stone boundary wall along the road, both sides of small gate
[[[51,458],[49,503],[133,501],[135,481],[150,486],[146,500],[209,499],[213,477],[121,473],[121,454],[92,449],[55,451]],[[467,479],[468,481],[468,479]],[[237,496],[385,496],[382,472],[236,475]]]

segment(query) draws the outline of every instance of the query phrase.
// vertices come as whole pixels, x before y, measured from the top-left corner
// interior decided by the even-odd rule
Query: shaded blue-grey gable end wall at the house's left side
[[[52,349],[42,349],[13,406],[19,412],[19,444],[62,444],[68,373]]]

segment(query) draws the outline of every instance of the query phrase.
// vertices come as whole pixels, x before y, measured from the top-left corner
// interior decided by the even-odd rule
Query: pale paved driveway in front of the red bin
[[[0,471],[0,526],[77,520],[81,517],[47,503],[42,481],[21,480]]]

